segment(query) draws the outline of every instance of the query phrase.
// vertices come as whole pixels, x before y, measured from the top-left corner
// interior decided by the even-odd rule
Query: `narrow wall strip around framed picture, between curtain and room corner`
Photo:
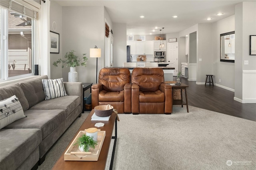
[[[56,30],[54,30],[52,23],[56,23]],[[60,53],[50,54],[50,75],[51,79],[62,78],[62,68],[61,64],[58,67],[52,65],[54,61],[62,59],[62,7],[59,6],[55,1],[51,1],[50,4],[50,31],[54,31],[60,34]]]

